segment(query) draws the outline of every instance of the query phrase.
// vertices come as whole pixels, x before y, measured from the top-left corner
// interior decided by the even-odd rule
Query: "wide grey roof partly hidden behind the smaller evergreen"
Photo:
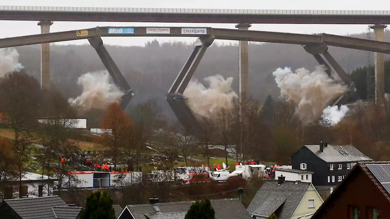
[[[128,205],[131,214],[135,219],[145,219],[145,215],[149,218],[155,214],[168,212],[187,212],[194,201],[180,201],[157,204],[144,205]],[[211,200],[211,205],[215,210],[215,219],[251,219],[248,211],[238,198],[216,199]],[[158,206],[161,213],[154,210],[153,206]],[[185,214],[184,214],[185,215]],[[176,214],[175,216],[178,216]],[[184,216],[182,217],[184,219]]]

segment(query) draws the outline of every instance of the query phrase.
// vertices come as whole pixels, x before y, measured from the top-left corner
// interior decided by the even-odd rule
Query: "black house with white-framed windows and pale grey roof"
[[[329,196],[349,170],[362,161],[372,161],[353,145],[305,145],[291,156],[293,169],[314,172],[312,183],[323,196]]]

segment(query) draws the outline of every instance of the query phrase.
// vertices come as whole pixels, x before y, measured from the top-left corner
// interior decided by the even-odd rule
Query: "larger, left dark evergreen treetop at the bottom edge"
[[[81,219],[115,219],[113,200],[105,191],[96,191],[88,195]]]

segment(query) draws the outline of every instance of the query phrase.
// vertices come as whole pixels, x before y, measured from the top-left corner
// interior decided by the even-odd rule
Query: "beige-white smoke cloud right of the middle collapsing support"
[[[231,109],[234,98],[238,98],[231,88],[233,78],[224,79],[221,75],[206,77],[209,84],[206,88],[196,79],[190,81],[183,95],[188,98],[190,109],[196,114],[208,118],[216,118],[222,109]]]

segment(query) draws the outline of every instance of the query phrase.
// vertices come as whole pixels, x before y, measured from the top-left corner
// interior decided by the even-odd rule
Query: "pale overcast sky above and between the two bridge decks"
[[[32,3],[34,2],[34,3]],[[25,6],[65,6],[65,7],[161,7],[161,8],[206,8],[206,9],[306,9],[306,10],[390,10],[388,0],[1,0],[1,5]],[[299,2],[299,3],[298,3]],[[5,4],[6,3],[6,4]],[[50,32],[93,28],[96,26],[207,26],[214,28],[232,28],[236,24],[191,24],[191,23],[110,23],[110,22],[54,22]],[[0,21],[0,38],[39,34],[36,21]],[[345,35],[365,32],[367,25],[275,25],[254,24],[250,30],[264,30],[289,33],[330,33]],[[105,37],[105,44],[143,46],[151,37]],[[195,39],[159,37],[159,41]],[[222,42],[222,40],[219,40]],[[74,40],[57,44],[86,44],[87,40]]]

